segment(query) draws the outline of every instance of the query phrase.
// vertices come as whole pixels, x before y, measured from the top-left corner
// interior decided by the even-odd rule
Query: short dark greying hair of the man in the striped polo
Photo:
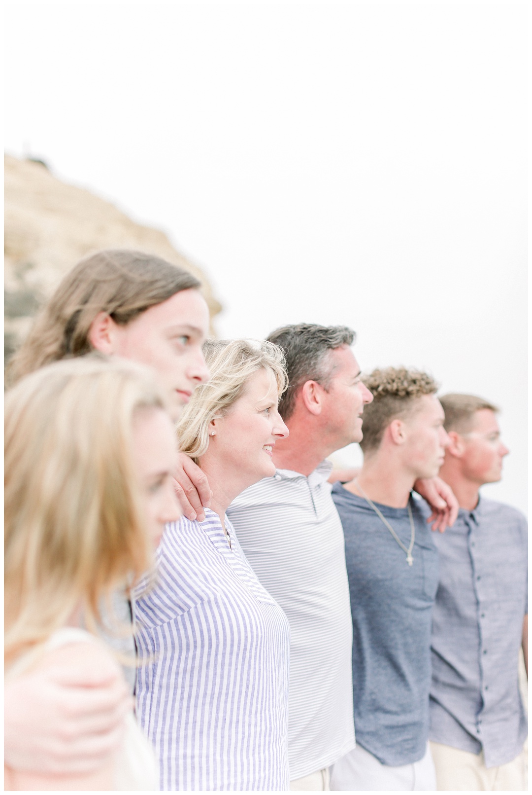
[[[353,345],[355,332],[347,326],[318,326],[299,323],[276,328],[268,335],[271,343],[283,348],[287,361],[288,389],[279,402],[279,414],[287,420],[294,413],[295,398],[306,381],[316,381],[324,389],[330,387],[333,364],[327,361],[329,351],[342,345]]]

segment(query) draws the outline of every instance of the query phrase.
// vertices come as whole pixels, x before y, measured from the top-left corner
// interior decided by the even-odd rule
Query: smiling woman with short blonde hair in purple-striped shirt
[[[168,525],[157,587],[136,601],[137,714],[161,789],[284,790],[289,627],[226,518],[237,494],[275,474],[272,448],[288,433],[277,411],[283,352],[237,339],[206,343],[204,354],[210,382],[178,436],[209,480],[211,506],[203,522]]]

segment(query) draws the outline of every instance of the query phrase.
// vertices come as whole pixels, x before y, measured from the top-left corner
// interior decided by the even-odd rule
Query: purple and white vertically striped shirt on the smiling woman
[[[217,514],[168,525],[136,599],[137,715],[161,789],[288,786],[290,629]]]

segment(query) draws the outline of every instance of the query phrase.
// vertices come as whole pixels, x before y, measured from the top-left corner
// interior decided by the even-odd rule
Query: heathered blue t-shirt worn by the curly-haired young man
[[[438,553],[420,502],[411,498],[414,563],[368,503],[333,487],[345,535],[353,615],[353,705],[357,744],[384,765],[418,762],[429,731],[430,624]],[[408,548],[407,508],[376,503]]]

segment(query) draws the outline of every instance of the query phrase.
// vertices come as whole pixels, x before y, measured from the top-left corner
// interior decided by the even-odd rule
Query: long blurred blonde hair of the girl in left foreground
[[[44,642],[81,607],[152,565],[133,470],[133,420],[164,409],[148,369],[94,354],[26,376],[6,394],[5,653]]]

